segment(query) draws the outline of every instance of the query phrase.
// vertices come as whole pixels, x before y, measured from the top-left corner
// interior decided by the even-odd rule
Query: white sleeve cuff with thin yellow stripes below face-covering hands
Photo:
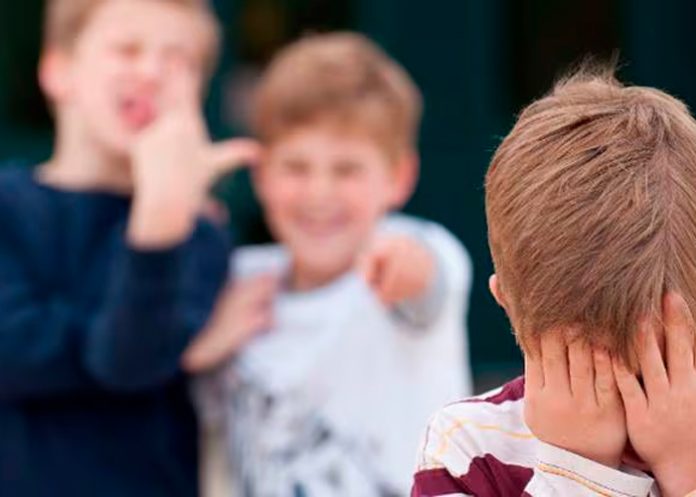
[[[654,480],[645,473],[610,468],[538,441],[537,470],[573,480],[600,495],[647,497]]]

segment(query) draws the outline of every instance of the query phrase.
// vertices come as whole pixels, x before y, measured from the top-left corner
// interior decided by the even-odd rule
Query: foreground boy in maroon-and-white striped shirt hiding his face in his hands
[[[696,122],[665,93],[581,71],[521,114],[486,204],[524,378],[433,418],[414,497],[696,489],[694,198]]]

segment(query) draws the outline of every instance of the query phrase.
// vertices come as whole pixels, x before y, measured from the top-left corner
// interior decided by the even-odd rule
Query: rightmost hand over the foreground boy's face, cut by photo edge
[[[644,323],[638,359],[643,378],[614,361],[628,435],[650,466],[665,497],[696,490],[696,325],[684,299],[668,294],[663,302],[666,360],[657,342],[659,324]],[[666,363],[666,365],[665,365]]]

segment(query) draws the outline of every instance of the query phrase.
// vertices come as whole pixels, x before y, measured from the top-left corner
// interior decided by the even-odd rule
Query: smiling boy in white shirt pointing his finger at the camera
[[[468,258],[433,223],[385,217],[414,186],[419,115],[356,34],[301,40],[262,77],[255,184],[282,245],[235,255],[239,299],[187,354],[209,365],[270,330],[222,378],[235,495],[405,496],[418,424],[469,390]]]

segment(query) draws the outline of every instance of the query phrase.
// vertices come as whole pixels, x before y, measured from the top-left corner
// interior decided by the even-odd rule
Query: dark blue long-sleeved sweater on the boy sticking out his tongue
[[[124,240],[129,200],[0,171],[0,496],[192,497],[196,420],[179,357],[228,247]]]

